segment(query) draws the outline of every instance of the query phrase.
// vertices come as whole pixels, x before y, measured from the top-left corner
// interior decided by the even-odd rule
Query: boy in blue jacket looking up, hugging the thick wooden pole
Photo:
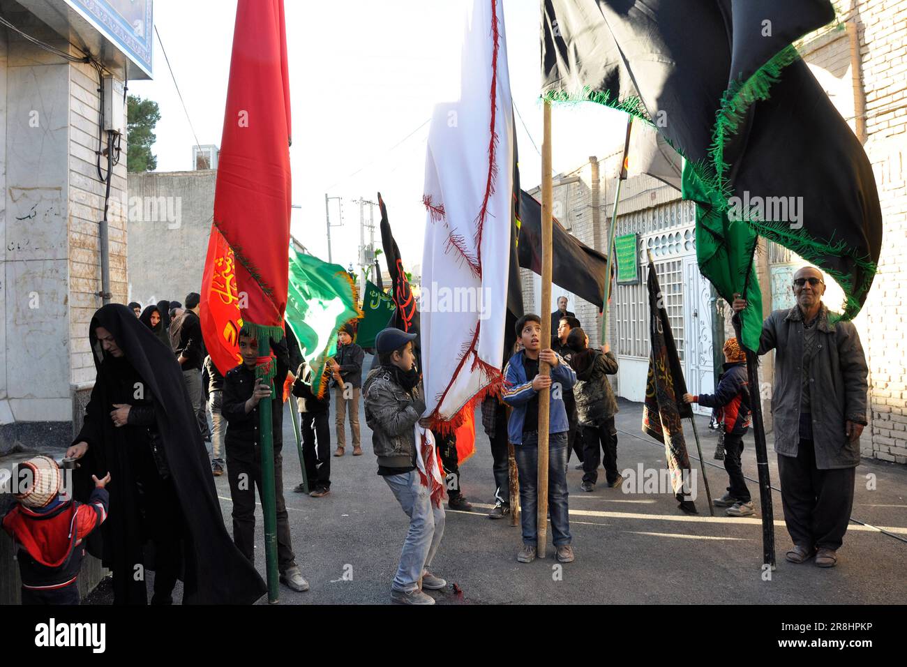
[[[570,508],[567,491],[567,411],[563,389],[573,387],[576,373],[557,352],[541,349],[541,319],[527,313],[516,322],[516,334],[523,349],[512,356],[504,367],[503,400],[513,407],[507,424],[507,435],[513,443],[520,474],[520,521],[522,549],[520,563],[532,563],[538,548],[536,505],[538,502],[539,456],[539,391],[549,388],[550,419],[548,427],[548,502],[551,509],[551,533],[560,563],[574,560],[570,534]],[[539,364],[551,366],[551,375],[540,375]],[[561,391],[556,389],[560,387]]]

